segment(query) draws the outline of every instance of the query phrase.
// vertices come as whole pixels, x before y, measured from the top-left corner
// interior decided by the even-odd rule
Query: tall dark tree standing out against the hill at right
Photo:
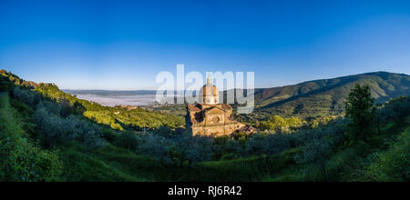
[[[354,85],[344,103],[346,116],[350,118],[346,136],[348,145],[360,140],[366,141],[373,133],[375,107],[369,85]]]

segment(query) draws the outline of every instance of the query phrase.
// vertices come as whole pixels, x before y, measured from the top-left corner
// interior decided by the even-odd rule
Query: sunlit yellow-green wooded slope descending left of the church
[[[57,102],[60,107],[65,108],[63,110],[66,110],[68,114],[84,115],[97,124],[108,125],[113,129],[141,130],[144,127],[156,129],[161,125],[176,128],[185,124],[181,116],[149,111],[139,107],[109,107],[78,99],[75,95],[59,90],[55,84],[28,82],[5,70],[0,71],[0,84],[2,87],[14,88],[14,91],[10,93],[20,95],[28,105],[36,105],[41,95],[42,98]],[[22,89],[7,85],[19,85]]]

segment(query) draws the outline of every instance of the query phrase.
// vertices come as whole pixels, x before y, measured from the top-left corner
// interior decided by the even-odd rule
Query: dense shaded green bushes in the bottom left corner
[[[37,146],[24,132],[25,125],[19,118],[7,95],[0,96],[0,180],[60,180],[63,164],[58,155]]]

